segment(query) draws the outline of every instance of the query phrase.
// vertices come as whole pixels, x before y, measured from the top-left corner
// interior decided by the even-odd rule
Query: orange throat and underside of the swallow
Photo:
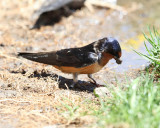
[[[88,66],[84,66],[80,68],[69,67],[69,66],[56,66],[56,65],[53,65],[53,66],[64,73],[92,74],[101,70],[112,58],[113,56],[111,54],[104,53],[102,55],[102,59],[100,60],[100,62],[95,62]]]

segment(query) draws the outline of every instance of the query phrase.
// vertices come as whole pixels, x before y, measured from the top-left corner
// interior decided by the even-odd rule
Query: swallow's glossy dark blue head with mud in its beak
[[[97,44],[95,44],[95,47],[101,52],[111,54],[116,60],[117,64],[122,63],[122,61],[120,60],[120,57],[122,55],[121,47],[119,45],[119,42],[115,38],[107,37],[100,39]]]

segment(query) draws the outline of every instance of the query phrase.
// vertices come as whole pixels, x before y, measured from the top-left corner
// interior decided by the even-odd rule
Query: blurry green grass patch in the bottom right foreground
[[[160,127],[160,84],[153,81],[153,75],[142,74],[125,89],[113,88],[111,98],[100,99],[101,107],[93,113],[98,117],[99,127],[109,124],[128,124],[135,128]]]

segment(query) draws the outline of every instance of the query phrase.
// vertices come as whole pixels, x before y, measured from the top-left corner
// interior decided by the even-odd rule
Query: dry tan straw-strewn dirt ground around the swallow
[[[29,30],[37,8],[34,0],[5,0],[0,2],[0,8],[0,127],[87,127],[93,124],[94,117],[80,118],[79,115],[90,107],[99,107],[92,93],[95,86],[88,82],[86,75],[79,77],[81,86],[70,90],[67,85],[72,83],[72,75],[16,55],[21,51],[52,51],[89,44],[106,35],[103,16],[107,17],[112,11],[96,9],[95,15],[83,8],[54,26]],[[106,66],[93,77],[100,84],[117,86],[117,80],[123,83],[125,75],[112,68]],[[136,72],[127,75],[132,78]],[[73,108],[79,106],[78,113],[72,117],[66,104]]]

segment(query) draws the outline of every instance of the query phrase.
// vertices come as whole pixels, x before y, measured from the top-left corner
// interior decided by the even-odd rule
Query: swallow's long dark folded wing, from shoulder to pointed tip
[[[91,65],[98,61],[98,55],[96,53],[84,52],[76,48],[64,49],[57,52],[19,53],[18,56],[39,63],[77,68]]]

